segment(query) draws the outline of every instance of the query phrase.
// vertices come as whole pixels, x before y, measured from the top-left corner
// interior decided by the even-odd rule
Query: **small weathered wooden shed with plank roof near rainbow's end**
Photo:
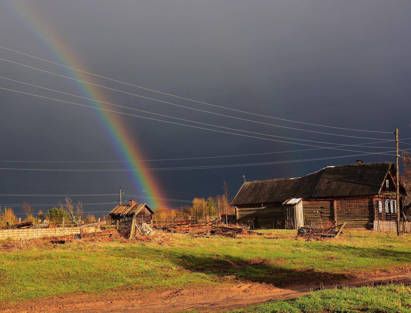
[[[129,205],[118,205],[108,215],[114,221],[126,221],[135,216],[136,223],[151,224],[153,214],[154,211],[147,203],[134,203],[134,200],[130,200]]]

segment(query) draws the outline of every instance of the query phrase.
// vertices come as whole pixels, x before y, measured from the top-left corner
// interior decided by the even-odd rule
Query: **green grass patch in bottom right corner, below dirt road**
[[[410,312],[410,308],[410,286],[386,285],[321,290],[295,299],[272,301],[226,313],[405,313]]]

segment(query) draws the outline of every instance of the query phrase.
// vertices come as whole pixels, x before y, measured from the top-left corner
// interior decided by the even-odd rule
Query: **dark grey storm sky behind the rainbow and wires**
[[[0,46],[56,62],[33,26],[18,14],[16,3],[35,12],[48,29],[77,53],[84,69],[91,73],[269,117],[389,132],[349,131],[276,120],[93,78],[114,89],[231,117],[105,90],[108,102],[213,126],[180,121],[183,124],[260,137],[121,116],[145,159],[257,154],[150,161],[147,164],[151,168],[279,162],[153,171],[151,175],[155,176],[164,198],[190,201],[194,196],[213,196],[222,193],[223,180],[228,182],[234,196],[243,182],[242,175],[247,180],[300,177],[325,166],[355,163],[356,159],[395,161],[391,148],[395,143],[382,141],[393,140],[396,127],[402,140],[400,149],[411,149],[411,139],[405,140],[411,138],[411,3],[408,1],[1,1]],[[2,48],[0,58],[64,74],[58,66]],[[0,60],[0,76],[80,94],[65,78],[3,60]],[[79,101],[4,78],[0,78],[0,87]],[[4,162],[122,161],[122,158],[92,109],[9,90],[0,90],[0,109],[1,168],[126,168],[123,163]],[[126,109],[122,112],[136,114]],[[153,117],[148,113],[142,115]],[[176,122],[170,117],[160,119]],[[336,144],[346,146],[339,148],[342,150],[307,150]],[[262,154],[271,152],[279,153]],[[355,156],[376,152],[384,154]],[[336,158],[339,156],[349,157]],[[305,159],[319,160],[284,163]],[[35,205],[37,212],[55,206],[65,195],[72,195],[73,202],[87,204],[86,212],[101,216],[113,204],[91,204],[113,203],[117,199],[113,194],[120,184],[126,194],[143,194],[127,172],[2,169],[0,194],[7,196],[0,196],[0,205],[11,205],[21,213],[19,207],[27,200]],[[75,196],[90,194],[109,196]],[[147,200],[149,204],[150,201]],[[179,207],[187,203],[168,201],[167,205]]]

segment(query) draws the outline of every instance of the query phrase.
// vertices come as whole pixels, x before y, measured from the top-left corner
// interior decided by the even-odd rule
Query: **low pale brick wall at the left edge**
[[[7,238],[14,240],[33,239],[43,237],[62,237],[68,235],[78,235],[99,231],[96,227],[58,227],[58,228],[38,228],[38,229],[2,229],[0,230],[0,241]]]

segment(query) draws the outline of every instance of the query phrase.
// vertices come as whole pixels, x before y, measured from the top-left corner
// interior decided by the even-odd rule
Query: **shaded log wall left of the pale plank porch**
[[[254,228],[284,228],[282,203],[260,207],[237,207],[237,217],[238,223]]]

